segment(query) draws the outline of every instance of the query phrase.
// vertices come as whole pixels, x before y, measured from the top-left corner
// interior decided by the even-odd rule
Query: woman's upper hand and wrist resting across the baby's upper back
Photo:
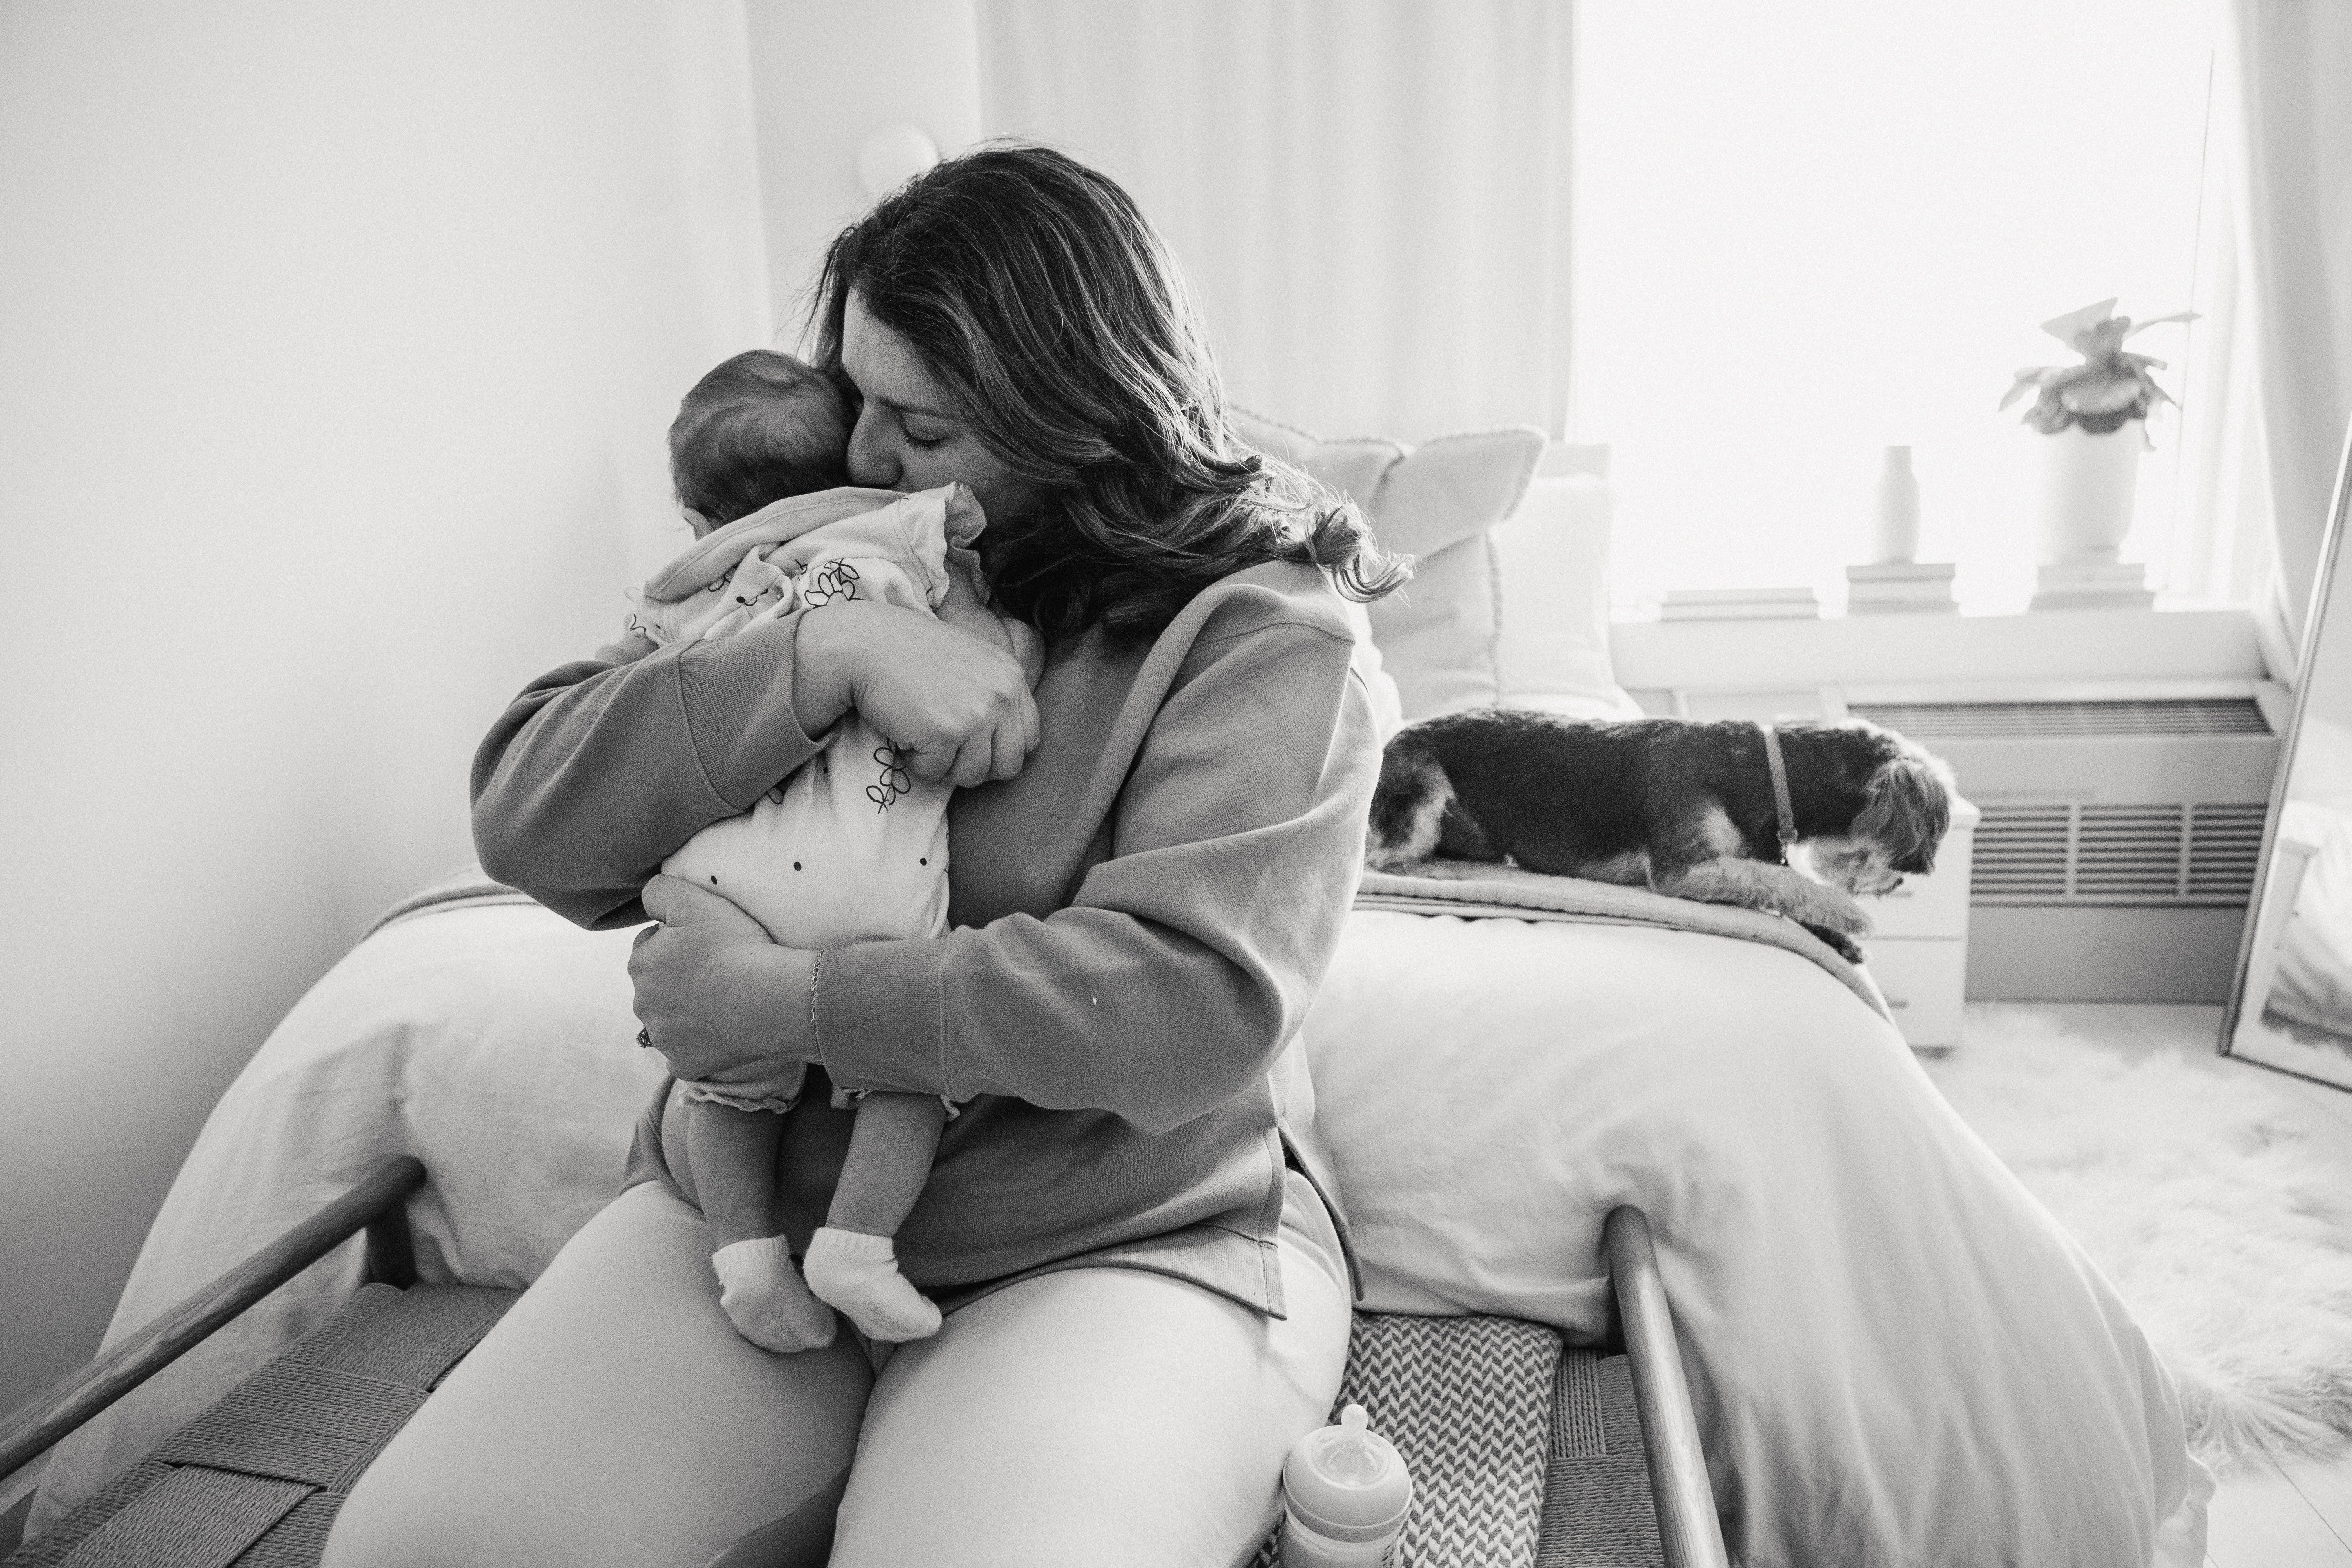
[[[800,618],[793,708],[809,733],[851,708],[908,752],[915,778],[1011,778],[1037,745],[1021,663],[971,632],[894,604],[826,604]]]

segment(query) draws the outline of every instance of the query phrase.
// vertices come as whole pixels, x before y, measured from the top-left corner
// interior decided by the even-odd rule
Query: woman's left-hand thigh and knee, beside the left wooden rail
[[[868,1387],[847,1340],[774,1356],[736,1335],[701,1218],[633,1187],[360,1479],[327,1563],[703,1568],[762,1530],[734,1561],[793,1561],[844,1486]]]

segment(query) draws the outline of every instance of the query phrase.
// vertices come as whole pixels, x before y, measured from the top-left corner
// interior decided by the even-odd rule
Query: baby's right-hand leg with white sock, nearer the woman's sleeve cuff
[[[891,1237],[931,1178],[946,1121],[948,1110],[934,1095],[873,1093],[858,1100],[833,1208],[809,1239],[809,1288],[875,1340],[938,1333],[938,1307],[898,1272]]]

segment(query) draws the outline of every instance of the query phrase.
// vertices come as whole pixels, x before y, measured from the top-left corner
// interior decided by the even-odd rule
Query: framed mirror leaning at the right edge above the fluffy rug
[[[2270,823],[2237,983],[2223,1011],[2230,1056],[2352,1088],[2352,550],[2345,503],[2352,433],[2336,465],[2328,529],[2303,623],[2293,722],[2270,788]]]

